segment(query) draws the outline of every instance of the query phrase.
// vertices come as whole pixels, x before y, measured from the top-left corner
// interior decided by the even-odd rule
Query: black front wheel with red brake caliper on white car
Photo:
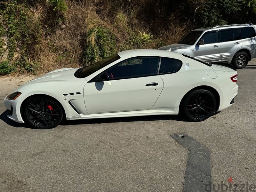
[[[60,124],[63,112],[60,104],[55,100],[35,96],[25,101],[23,105],[25,122],[36,129],[51,129]]]

